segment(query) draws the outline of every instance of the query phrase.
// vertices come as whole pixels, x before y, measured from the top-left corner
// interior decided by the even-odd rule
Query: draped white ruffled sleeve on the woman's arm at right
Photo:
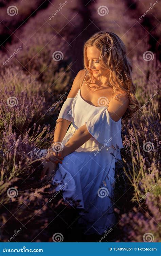
[[[121,138],[121,118],[115,122],[109,115],[107,107],[101,109],[91,120],[85,122],[89,133],[107,147],[123,148]]]

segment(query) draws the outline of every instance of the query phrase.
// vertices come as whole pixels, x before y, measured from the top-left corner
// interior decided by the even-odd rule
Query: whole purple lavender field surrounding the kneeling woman
[[[122,119],[116,165],[117,225],[89,242],[161,242],[159,1],[0,0],[0,241],[86,242],[76,205],[40,178],[34,148],[47,149],[77,72],[98,31],[119,35],[140,108]]]

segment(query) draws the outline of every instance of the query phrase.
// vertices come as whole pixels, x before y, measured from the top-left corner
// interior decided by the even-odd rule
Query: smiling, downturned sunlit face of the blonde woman
[[[108,76],[108,70],[101,67],[99,63],[101,52],[94,46],[87,47],[87,65],[94,77]]]

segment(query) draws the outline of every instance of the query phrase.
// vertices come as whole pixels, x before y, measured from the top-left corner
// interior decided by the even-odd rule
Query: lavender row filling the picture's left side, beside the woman
[[[51,145],[55,118],[72,83],[70,42],[81,23],[73,8],[74,2],[51,1],[16,30],[1,52],[1,241],[53,241],[72,216],[61,189],[52,197],[51,181],[40,179],[39,151],[33,150]]]

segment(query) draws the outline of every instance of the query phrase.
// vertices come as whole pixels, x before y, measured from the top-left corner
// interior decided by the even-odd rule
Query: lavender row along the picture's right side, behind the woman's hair
[[[115,240],[117,242],[159,242],[161,237],[159,231],[161,12],[159,2],[150,5],[147,1],[143,2],[121,2],[116,19],[114,19],[115,6],[112,3],[106,6],[103,0],[95,5],[93,12],[94,18],[98,17],[96,10],[101,14],[99,18],[101,30],[112,30],[125,42],[127,55],[133,66],[136,97],[140,104],[133,120],[122,122],[125,148],[122,151],[121,169],[119,166],[116,168],[114,200],[115,212],[119,216],[118,236]],[[148,14],[149,12],[151,15]],[[110,239],[109,235],[108,237]],[[108,237],[106,236],[107,240]]]

